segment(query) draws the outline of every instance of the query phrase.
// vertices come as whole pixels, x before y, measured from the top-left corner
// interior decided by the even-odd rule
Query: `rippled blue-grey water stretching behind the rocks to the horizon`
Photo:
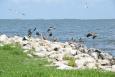
[[[19,34],[25,36],[29,28],[37,27],[39,32],[46,33],[49,26],[55,26],[54,36],[60,41],[71,37],[85,40],[88,47],[95,47],[115,56],[115,20],[0,20],[0,32],[8,36]],[[98,33],[98,37],[86,38],[88,32]]]

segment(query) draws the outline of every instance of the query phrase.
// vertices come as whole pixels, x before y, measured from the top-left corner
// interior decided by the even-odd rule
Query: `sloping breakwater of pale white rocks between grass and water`
[[[79,42],[52,42],[40,38],[0,35],[0,45],[18,43],[29,57],[45,57],[57,69],[102,69],[115,72],[115,57]]]

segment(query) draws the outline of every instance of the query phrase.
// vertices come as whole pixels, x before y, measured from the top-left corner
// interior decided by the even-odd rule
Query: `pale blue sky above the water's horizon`
[[[0,19],[115,19],[115,0],[0,0]]]

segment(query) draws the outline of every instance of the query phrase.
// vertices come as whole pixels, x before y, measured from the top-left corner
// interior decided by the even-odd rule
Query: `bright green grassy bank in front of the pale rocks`
[[[0,77],[115,77],[97,70],[57,70],[43,58],[29,58],[20,47],[0,47]]]

